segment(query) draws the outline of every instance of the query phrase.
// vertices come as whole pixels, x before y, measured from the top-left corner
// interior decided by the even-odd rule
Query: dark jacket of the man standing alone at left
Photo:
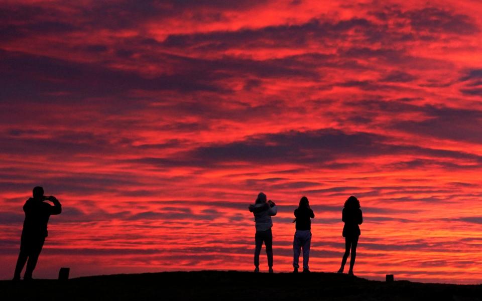
[[[22,237],[45,238],[48,236],[47,223],[50,215],[62,212],[60,202],[55,200],[53,203],[54,206],[34,198],[30,198],[25,202],[25,220]]]

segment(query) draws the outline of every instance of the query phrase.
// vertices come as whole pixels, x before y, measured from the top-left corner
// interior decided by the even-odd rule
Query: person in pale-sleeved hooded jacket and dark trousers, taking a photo
[[[266,195],[262,192],[258,194],[256,203],[250,205],[250,212],[253,212],[256,222],[256,234],[255,234],[255,272],[260,271],[260,253],[263,242],[266,247],[266,255],[268,255],[269,272],[273,272],[273,233],[271,227],[273,222],[271,217],[276,215],[278,208],[276,204],[269,200],[266,202]]]

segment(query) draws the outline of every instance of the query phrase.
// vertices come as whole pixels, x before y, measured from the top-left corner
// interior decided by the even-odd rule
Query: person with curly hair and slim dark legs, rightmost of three
[[[343,226],[343,237],[345,238],[345,253],[341,260],[341,267],[338,273],[342,273],[345,267],[346,259],[350,254],[350,269],[348,274],[353,275],[353,265],[356,258],[356,245],[358,244],[358,236],[360,236],[360,227],[363,222],[362,210],[360,210],[360,202],[354,196],[350,196],[346,201],[341,214],[341,220],[345,223]]]

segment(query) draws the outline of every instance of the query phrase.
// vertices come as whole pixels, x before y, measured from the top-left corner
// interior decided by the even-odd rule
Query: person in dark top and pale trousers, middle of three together
[[[295,209],[296,223],[295,237],[293,239],[293,272],[297,273],[298,260],[300,258],[301,248],[303,248],[303,272],[309,272],[308,260],[310,259],[310,244],[311,244],[311,219],[315,217],[313,210],[311,210],[307,197],[302,197],[300,204]]]

